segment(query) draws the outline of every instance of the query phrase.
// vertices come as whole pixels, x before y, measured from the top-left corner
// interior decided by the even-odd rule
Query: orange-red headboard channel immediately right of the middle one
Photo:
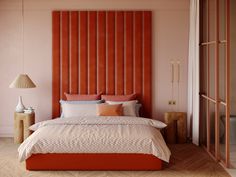
[[[107,94],[115,94],[115,12],[107,12]]]

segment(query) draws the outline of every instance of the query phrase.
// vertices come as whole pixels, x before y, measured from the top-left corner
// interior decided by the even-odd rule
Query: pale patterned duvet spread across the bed
[[[169,162],[159,131],[166,125],[140,117],[71,117],[36,123],[18,148],[20,161],[38,153],[142,153]]]

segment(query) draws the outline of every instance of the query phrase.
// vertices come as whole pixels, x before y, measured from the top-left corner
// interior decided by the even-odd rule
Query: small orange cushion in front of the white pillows
[[[109,105],[107,103],[97,104],[98,116],[123,116],[122,104]]]

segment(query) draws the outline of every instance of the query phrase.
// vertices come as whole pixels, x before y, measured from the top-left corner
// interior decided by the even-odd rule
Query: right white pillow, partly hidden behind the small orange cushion
[[[136,104],[137,100],[134,101],[106,101],[108,104],[122,104],[124,116],[137,117]]]

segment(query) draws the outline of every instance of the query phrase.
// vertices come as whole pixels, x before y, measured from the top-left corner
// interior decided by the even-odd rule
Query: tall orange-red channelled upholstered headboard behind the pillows
[[[136,93],[152,112],[150,11],[52,12],[52,117],[64,92]]]

